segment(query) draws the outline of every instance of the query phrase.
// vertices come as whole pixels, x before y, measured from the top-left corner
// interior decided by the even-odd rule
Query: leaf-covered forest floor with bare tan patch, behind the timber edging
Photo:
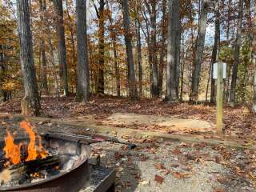
[[[19,114],[21,99],[0,105],[0,112]],[[219,138],[215,131],[216,108],[204,104],[166,103],[160,99],[92,97],[89,103],[79,104],[74,98],[42,97],[45,117],[62,118],[76,122],[93,123],[136,130],[161,131],[167,134],[202,135]],[[246,145],[256,142],[256,115],[246,106],[224,107],[224,134],[222,138],[241,140]]]

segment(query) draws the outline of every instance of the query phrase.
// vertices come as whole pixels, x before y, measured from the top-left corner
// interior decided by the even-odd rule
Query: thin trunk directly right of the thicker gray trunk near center
[[[138,83],[139,97],[142,97],[142,41],[141,41],[141,21],[139,18],[138,2],[136,1],[136,34],[137,34],[137,57],[138,57]]]

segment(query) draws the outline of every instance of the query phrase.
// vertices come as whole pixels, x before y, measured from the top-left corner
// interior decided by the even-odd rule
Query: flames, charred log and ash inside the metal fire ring
[[[78,164],[77,154],[59,153],[59,145],[52,147],[42,144],[42,138],[34,133],[29,122],[23,121],[20,126],[29,135],[29,140],[15,143],[13,134],[7,130],[5,146],[0,153],[0,186],[40,182],[71,170]]]

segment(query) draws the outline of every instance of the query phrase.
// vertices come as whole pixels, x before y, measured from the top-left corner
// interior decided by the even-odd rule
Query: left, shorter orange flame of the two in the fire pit
[[[5,138],[6,146],[3,150],[6,152],[6,158],[10,159],[10,162],[18,164],[21,162],[20,145],[14,143],[14,138],[7,130],[7,136]]]

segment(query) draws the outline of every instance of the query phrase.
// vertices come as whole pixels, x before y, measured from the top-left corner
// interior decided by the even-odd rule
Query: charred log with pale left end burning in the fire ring
[[[1,185],[8,183],[12,183],[12,185],[21,184],[22,181],[30,178],[31,174],[38,173],[42,170],[52,170],[54,167],[59,166],[60,163],[60,158],[54,155],[9,166],[0,173],[0,183]]]

